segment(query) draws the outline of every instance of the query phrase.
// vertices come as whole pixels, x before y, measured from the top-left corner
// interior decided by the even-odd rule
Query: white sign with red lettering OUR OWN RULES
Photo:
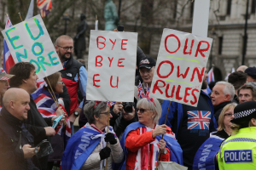
[[[164,29],[150,96],[197,106],[212,38]]]

